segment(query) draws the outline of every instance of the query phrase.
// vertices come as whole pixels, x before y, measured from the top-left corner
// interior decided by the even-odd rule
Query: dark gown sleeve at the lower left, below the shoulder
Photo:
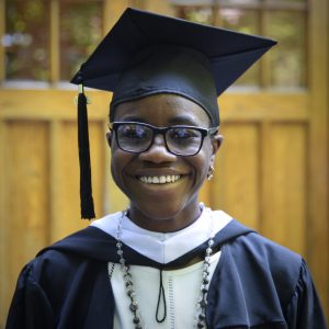
[[[50,329],[54,316],[49,300],[34,279],[33,263],[21,272],[9,309],[5,329]]]

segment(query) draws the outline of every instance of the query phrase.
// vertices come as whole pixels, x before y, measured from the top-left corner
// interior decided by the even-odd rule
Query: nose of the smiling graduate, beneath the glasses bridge
[[[139,154],[138,158],[141,161],[161,163],[175,161],[177,156],[167,149],[164,137],[157,135],[150,148],[147,151]]]

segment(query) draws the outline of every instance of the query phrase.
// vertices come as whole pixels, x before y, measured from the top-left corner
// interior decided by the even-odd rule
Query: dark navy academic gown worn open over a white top
[[[42,250],[19,277],[5,328],[113,328],[107,262],[118,261],[115,243],[99,228],[88,227]],[[298,254],[236,220],[216,235],[215,246],[222,256],[207,295],[207,328],[326,328]],[[168,265],[204,257],[205,248],[203,243]],[[123,249],[129,264],[163,268],[127,246]]]

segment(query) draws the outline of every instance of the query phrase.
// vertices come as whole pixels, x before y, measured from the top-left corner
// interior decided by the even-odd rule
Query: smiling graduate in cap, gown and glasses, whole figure
[[[129,207],[42,250],[7,328],[326,328],[304,260],[198,201],[223,140],[217,95],[273,44],[124,13],[73,82],[114,92],[111,170]],[[88,152],[84,138],[82,184]]]

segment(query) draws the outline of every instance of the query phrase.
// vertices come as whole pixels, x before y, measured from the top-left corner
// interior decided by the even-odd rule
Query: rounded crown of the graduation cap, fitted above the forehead
[[[132,60],[114,89],[110,121],[115,107],[148,95],[171,93],[198,104],[219,125],[217,92],[209,59],[200,52],[177,45],[149,47]]]

